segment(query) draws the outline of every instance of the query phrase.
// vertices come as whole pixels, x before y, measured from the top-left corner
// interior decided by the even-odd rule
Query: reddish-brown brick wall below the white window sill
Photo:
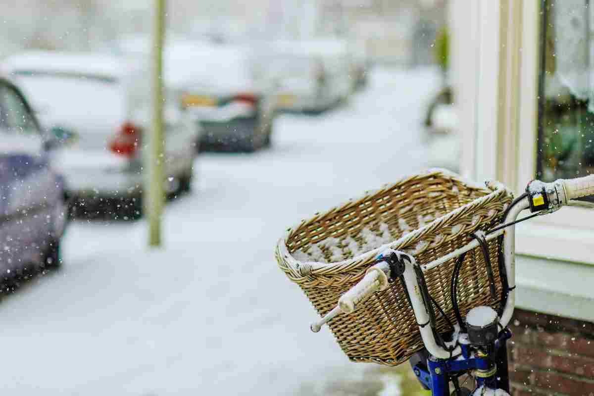
[[[510,328],[514,396],[594,396],[593,323],[516,309]]]

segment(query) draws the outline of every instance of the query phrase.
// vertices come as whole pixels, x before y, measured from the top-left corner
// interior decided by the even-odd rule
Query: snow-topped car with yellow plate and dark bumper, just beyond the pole
[[[110,45],[121,56],[147,56],[146,36],[124,36]],[[274,80],[249,46],[169,37],[166,83],[200,126],[201,150],[251,152],[270,144],[276,113]]]

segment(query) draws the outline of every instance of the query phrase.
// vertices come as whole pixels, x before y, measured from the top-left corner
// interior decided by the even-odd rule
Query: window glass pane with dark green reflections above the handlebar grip
[[[538,177],[594,172],[594,10],[545,0],[539,74]]]

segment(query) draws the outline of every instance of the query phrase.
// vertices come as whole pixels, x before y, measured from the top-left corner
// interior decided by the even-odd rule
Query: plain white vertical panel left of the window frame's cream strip
[[[497,170],[499,7],[498,0],[450,3],[451,81],[463,141],[460,170],[478,180],[495,178]]]

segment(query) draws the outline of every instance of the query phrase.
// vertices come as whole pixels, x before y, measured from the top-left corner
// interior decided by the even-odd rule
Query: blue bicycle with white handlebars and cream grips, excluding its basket
[[[501,186],[494,188],[494,191],[501,191]],[[453,394],[458,396],[469,394],[508,395],[510,388],[506,343],[511,338],[511,331],[507,328],[507,324],[513,315],[515,302],[515,224],[535,216],[553,213],[568,204],[571,199],[582,198],[587,195],[594,195],[594,175],[577,179],[559,179],[551,183],[533,180],[527,186],[526,192],[513,199],[507,208],[504,208],[499,224],[487,230],[475,230],[472,233],[470,242],[455,249],[451,248],[447,254],[430,262],[421,264],[416,261],[415,254],[392,248],[383,249],[380,254],[375,256],[374,264],[365,270],[364,277],[355,286],[350,287],[346,293],[342,294],[336,307],[327,312],[320,321],[312,324],[311,330],[314,332],[320,331],[324,324],[332,321],[340,313],[350,315],[361,306],[364,306],[369,297],[387,290],[394,283],[400,283],[402,289],[398,290],[405,291],[406,301],[412,308],[414,320],[422,339],[423,348],[416,350],[408,357],[412,370],[416,378],[421,382],[422,387],[431,390],[434,396],[450,395],[450,383],[453,385]],[[505,199],[505,195],[499,197]],[[519,219],[519,214],[527,209],[530,210],[531,214]],[[459,212],[461,211],[459,210]],[[459,213],[456,212],[454,215],[458,216]],[[299,229],[299,231],[303,233],[302,229]],[[458,306],[457,290],[459,289],[460,268],[465,262],[465,255],[469,254],[470,251],[474,251],[474,249],[479,249],[482,252],[483,257],[481,260],[485,264],[486,278],[488,278],[488,288],[485,287],[485,289],[488,289],[487,293],[491,297],[495,297],[497,290],[494,269],[491,265],[491,258],[494,255],[492,254],[493,248],[490,247],[494,243],[497,244],[497,257],[500,265],[498,271],[498,277],[501,280],[499,307],[496,311],[492,306],[476,305],[467,311],[466,318],[463,319]],[[280,243],[279,246],[281,246]],[[288,258],[287,252],[283,251],[282,246],[277,250],[279,264],[283,257],[285,260]],[[285,256],[282,256],[283,254]],[[455,264],[451,264],[453,262]],[[431,296],[425,280],[425,276],[430,270],[445,263],[450,263],[450,266],[453,265],[450,299],[455,324],[451,322],[444,309]],[[310,277],[312,271],[316,269],[327,270],[328,268],[321,264],[316,265],[316,263],[306,264],[309,265],[307,270],[303,270],[304,265],[301,265],[301,267],[298,265],[298,271],[310,274]],[[286,265],[282,268],[287,270]],[[288,270],[292,269],[289,268]],[[295,276],[298,271],[293,271],[292,276]],[[435,287],[432,287],[432,289],[435,289]],[[309,293],[312,292],[309,291]],[[316,305],[321,297],[314,296],[312,298],[310,294],[308,294],[308,297]],[[380,306],[383,306],[384,309],[389,308],[385,301]],[[434,306],[438,309],[440,316],[436,315]],[[390,315],[394,316],[393,314]],[[372,320],[373,318],[369,318],[369,316],[369,314],[366,314],[364,319]],[[359,319],[353,319],[353,322],[359,321],[362,323],[364,319],[360,319],[360,321]],[[437,323],[438,319],[442,322],[448,322],[450,330],[444,332],[443,325],[440,327]],[[356,330],[353,330],[355,329],[353,326],[351,324],[350,328],[354,332]],[[337,329],[337,331],[340,331],[340,328]],[[449,339],[446,340],[445,338]],[[367,338],[364,339],[365,342],[369,342]],[[381,341],[386,343],[386,340]],[[409,344],[413,343],[413,341],[408,342]],[[418,349],[415,344],[407,346],[409,349]],[[348,348],[349,346],[343,347],[343,350],[347,352]],[[352,353],[350,350],[348,352]],[[366,351],[366,353],[369,354],[369,351]],[[349,357],[352,360],[357,360],[357,357]],[[377,360],[384,364],[399,363],[397,359],[392,361],[382,359],[380,356],[359,360]],[[465,375],[467,379],[470,378],[475,382],[473,390],[460,386],[459,378]]]

